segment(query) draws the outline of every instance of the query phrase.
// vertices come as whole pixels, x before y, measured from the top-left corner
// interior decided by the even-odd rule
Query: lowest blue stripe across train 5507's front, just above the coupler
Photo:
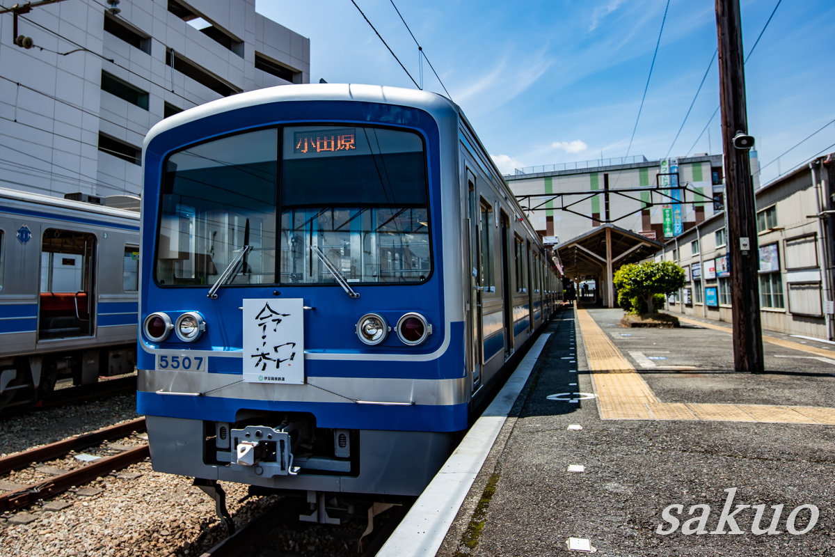
[[[376,406],[353,403],[295,403],[225,397],[182,397],[136,393],[136,412],[216,422],[235,422],[241,409],[263,412],[308,412],[316,427],[450,432],[467,428],[467,404],[449,406]]]

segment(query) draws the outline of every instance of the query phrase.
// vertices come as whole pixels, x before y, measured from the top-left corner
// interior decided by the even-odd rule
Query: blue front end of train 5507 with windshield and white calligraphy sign
[[[419,494],[467,427],[438,121],[264,94],[172,121],[144,159],[137,408],[154,469]]]

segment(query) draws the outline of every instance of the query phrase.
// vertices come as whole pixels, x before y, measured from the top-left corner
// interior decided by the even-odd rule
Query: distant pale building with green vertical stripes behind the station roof
[[[721,166],[721,155],[638,156],[530,167],[504,178],[518,198],[527,196],[520,203],[529,219],[540,235],[556,236],[554,243],[606,223],[664,241],[711,218],[713,199],[721,198]],[[663,189],[676,180],[687,190]]]

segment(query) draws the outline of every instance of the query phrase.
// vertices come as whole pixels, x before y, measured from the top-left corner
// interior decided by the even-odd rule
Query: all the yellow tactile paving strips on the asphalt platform
[[[661,403],[650,386],[635,372],[635,367],[615,347],[590,316],[578,307],[578,322],[589,357],[591,381],[597,394],[600,418],[605,420],[706,420],[719,422],[814,423],[835,425],[835,408],[775,406],[767,404]],[[681,321],[731,332],[728,327],[703,323],[678,316]],[[792,350],[802,350],[824,357],[835,353],[799,342],[763,337]]]

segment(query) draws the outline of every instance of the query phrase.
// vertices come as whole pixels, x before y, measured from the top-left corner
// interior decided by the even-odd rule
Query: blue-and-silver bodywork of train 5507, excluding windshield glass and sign
[[[264,129],[300,141],[313,137],[311,129],[320,136],[331,133],[327,126],[345,134],[352,134],[356,126],[357,137],[385,128],[422,138],[429,210],[417,220],[430,230],[427,241],[432,249],[427,253],[432,261],[426,263],[427,276],[387,284],[352,281],[355,271],[349,263],[339,264],[337,255],[333,260],[342,265],[348,286],[359,296],[349,296],[348,289],[331,277],[332,271],[321,271],[324,282],[316,284],[311,284],[319,280],[315,277],[291,276],[281,268],[276,280],[247,283],[241,277],[215,291],[217,299],[207,296],[210,282],[178,288],[171,286],[170,279],[162,281],[170,259],[159,253],[171,244],[166,236],[171,225],[164,223],[174,220],[164,211],[174,211],[167,207],[175,206],[165,195],[170,197],[179,187],[176,177],[166,178],[165,173],[186,167],[184,163],[171,170],[175,165],[166,161],[175,160],[178,153],[193,153],[192,167],[195,160],[210,161],[200,165],[220,165],[218,157],[237,156],[235,152],[247,149],[200,154],[209,153],[211,141]],[[273,135],[270,132],[269,137]],[[200,145],[209,147],[200,151]],[[281,159],[281,146],[276,149]],[[296,154],[292,149],[283,152],[285,166],[302,156],[298,145]],[[382,160],[382,155],[378,158]],[[221,169],[235,166],[231,159],[221,163]],[[146,416],[151,458],[158,471],[308,493],[417,495],[448,457],[456,434],[468,428],[473,408],[519,361],[557,306],[561,289],[539,236],[461,110],[436,94],[319,84],[235,95],[186,110],[151,129],[144,144],[144,171],[140,318],[146,328],[155,316],[160,322],[164,316],[168,323],[180,323],[190,312],[205,321],[199,342],[183,342],[185,336],[178,341],[174,334],[157,342],[147,331],[140,334],[138,411]],[[212,180],[211,173],[204,176],[201,180]],[[215,191],[224,187],[203,186]],[[282,187],[275,189],[281,190],[286,207],[291,201],[285,200]],[[192,205],[202,201],[185,207],[186,199],[185,193],[177,197],[177,210],[200,225],[200,210]],[[240,215],[219,216],[213,210],[215,221],[244,221]],[[299,243],[312,250],[311,244],[328,233],[305,236],[306,243]],[[218,235],[209,231],[206,237],[221,234],[222,230]],[[283,242],[289,233],[275,235]],[[213,246],[218,261],[220,243]],[[351,256],[347,241],[345,246],[342,253],[347,260]],[[412,249],[412,256],[416,250]],[[230,261],[232,253],[220,261]],[[178,255],[166,252],[165,256]],[[403,261],[398,257],[388,261]],[[205,253],[197,253],[189,261],[205,259]],[[250,264],[256,266],[253,261]],[[319,265],[314,256],[304,261],[306,273]],[[220,280],[224,266],[206,276]],[[402,263],[397,269],[402,272]],[[241,310],[251,299],[262,303],[285,297],[300,299],[305,306],[300,327],[306,375],[298,384],[246,380],[241,375],[251,367],[251,355],[242,347],[246,340],[241,327],[247,325],[242,324]],[[362,317],[371,313],[392,327],[385,342],[376,346],[358,338]],[[409,346],[399,327],[413,314],[424,317],[431,334]],[[205,358],[207,369],[182,369],[180,362],[187,359],[194,365],[196,358],[200,362]],[[178,369],[172,369],[174,361]],[[268,442],[261,434],[275,437]],[[256,443],[256,437],[261,441]],[[285,440],[287,447],[276,448],[276,438]],[[252,452],[241,451],[244,444],[251,448],[253,443],[267,446],[254,461]]]

